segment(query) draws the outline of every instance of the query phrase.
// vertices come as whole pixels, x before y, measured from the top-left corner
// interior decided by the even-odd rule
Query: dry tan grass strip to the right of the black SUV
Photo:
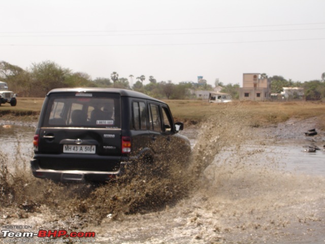
[[[325,129],[325,103],[321,102],[240,102],[209,104],[203,101],[166,101],[178,120],[201,123],[210,116],[229,110],[238,116],[250,116],[252,126],[264,126],[286,121],[289,118],[319,118],[319,127]]]

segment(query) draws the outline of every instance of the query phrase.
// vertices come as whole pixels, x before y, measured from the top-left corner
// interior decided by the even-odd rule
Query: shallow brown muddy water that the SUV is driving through
[[[187,196],[163,209],[152,207],[152,211],[114,218],[110,208],[99,223],[81,225],[85,209],[78,212],[71,207],[69,218],[59,214],[59,208],[70,208],[64,204],[67,194],[62,194],[51,204],[42,200],[24,218],[8,214],[10,207],[6,207],[1,224],[95,231],[96,243],[324,243],[325,153],[304,153],[303,149],[310,143],[321,147],[325,138],[321,133],[313,141],[301,136],[313,126],[309,121],[283,125],[285,132],[292,127],[292,133],[285,135],[279,132],[281,126],[254,129],[240,123],[225,127],[210,120],[200,130],[185,130],[194,156],[189,177],[196,180],[189,181],[193,185]],[[0,130],[6,153],[30,148],[33,129],[24,128],[26,136],[18,140],[24,134],[19,128]],[[77,197],[74,203],[86,200],[88,204],[92,199]]]

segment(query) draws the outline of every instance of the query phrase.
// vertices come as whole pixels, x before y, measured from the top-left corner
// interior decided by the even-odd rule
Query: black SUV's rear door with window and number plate
[[[119,94],[52,93],[45,107],[38,153],[120,156],[120,114]]]

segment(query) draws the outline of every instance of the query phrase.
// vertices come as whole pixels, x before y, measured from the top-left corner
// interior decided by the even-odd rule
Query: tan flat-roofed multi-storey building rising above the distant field
[[[271,79],[260,73],[244,73],[243,87],[239,88],[240,100],[265,101],[271,98]]]

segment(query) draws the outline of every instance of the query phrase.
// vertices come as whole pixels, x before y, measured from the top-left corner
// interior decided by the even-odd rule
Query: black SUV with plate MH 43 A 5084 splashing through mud
[[[190,155],[168,105],[133,90],[59,88],[42,107],[34,136],[35,177],[55,181],[105,181],[139,160],[168,162]],[[184,163],[184,162],[180,162]]]

